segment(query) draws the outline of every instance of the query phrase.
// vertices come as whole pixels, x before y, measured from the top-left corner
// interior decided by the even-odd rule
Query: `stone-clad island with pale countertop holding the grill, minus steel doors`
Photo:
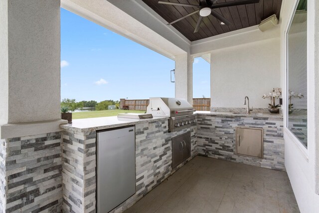
[[[125,119],[114,117],[73,120],[61,125],[63,211],[96,211],[96,131],[135,126],[136,193],[112,212],[123,212],[176,169],[197,155],[196,125],[168,132],[168,118]],[[191,157],[172,169],[171,139],[185,132],[191,135]],[[110,195],[112,196],[112,195]]]

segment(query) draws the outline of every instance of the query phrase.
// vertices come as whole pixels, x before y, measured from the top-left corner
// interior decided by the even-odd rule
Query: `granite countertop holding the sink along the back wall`
[[[240,116],[240,117],[273,117],[273,118],[283,118],[282,114],[272,114],[272,113],[254,113],[250,114],[243,112],[211,112],[211,111],[196,111],[195,114],[199,115],[224,115],[224,116]]]

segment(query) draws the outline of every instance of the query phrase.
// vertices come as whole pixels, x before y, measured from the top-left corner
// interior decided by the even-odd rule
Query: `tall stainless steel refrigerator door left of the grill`
[[[97,212],[110,212],[135,191],[135,127],[97,132]]]

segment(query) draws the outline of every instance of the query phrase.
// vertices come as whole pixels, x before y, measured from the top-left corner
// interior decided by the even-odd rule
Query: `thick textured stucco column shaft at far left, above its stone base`
[[[0,29],[3,138],[12,124],[60,119],[60,0],[1,0]]]

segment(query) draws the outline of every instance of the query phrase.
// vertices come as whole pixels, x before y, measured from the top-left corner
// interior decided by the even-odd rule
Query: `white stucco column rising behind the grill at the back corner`
[[[193,57],[187,53],[175,56],[175,98],[193,104]]]

